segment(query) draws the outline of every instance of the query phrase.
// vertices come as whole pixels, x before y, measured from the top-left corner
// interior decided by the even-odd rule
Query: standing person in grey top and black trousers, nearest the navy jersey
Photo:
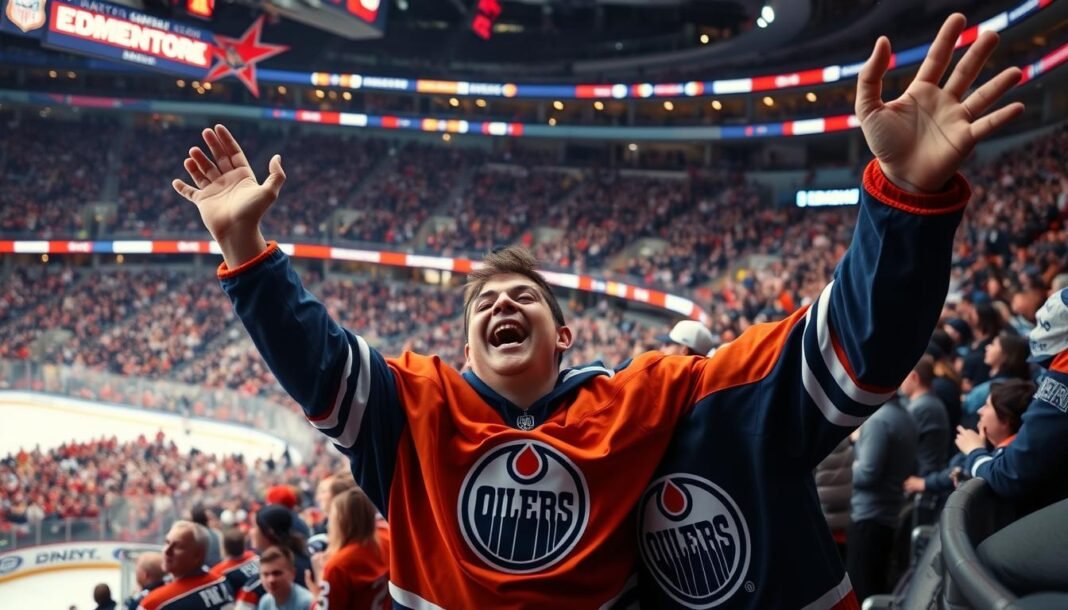
[[[853,433],[853,497],[846,570],[857,599],[886,593],[894,532],[905,504],[901,484],[915,472],[920,433],[901,402],[891,398]]]

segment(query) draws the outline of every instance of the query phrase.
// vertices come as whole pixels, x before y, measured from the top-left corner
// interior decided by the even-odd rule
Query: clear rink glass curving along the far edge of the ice
[[[0,360],[0,384],[10,390],[45,392],[237,423],[281,438],[301,455],[314,454],[315,434],[297,412],[296,405],[280,405],[233,390],[29,360]]]

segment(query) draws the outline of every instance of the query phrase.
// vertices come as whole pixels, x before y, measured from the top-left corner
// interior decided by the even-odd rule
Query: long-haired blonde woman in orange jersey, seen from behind
[[[316,608],[390,608],[389,528],[367,495],[352,487],[334,496],[327,522],[327,550],[312,561],[320,573]]]

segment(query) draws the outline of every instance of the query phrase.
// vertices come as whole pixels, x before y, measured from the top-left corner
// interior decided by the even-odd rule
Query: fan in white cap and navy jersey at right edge
[[[1068,288],[1038,311],[1031,332],[1031,361],[1046,369],[1012,444],[996,455],[981,432],[958,428],[964,471],[1030,512],[1068,498]]]

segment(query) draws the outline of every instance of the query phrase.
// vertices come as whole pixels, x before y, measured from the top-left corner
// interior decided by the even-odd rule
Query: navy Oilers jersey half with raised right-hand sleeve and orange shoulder
[[[710,359],[731,378],[687,413],[638,505],[643,608],[860,609],[811,473],[923,355],[969,198],[960,176],[904,193],[875,165],[864,189],[818,299]]]

